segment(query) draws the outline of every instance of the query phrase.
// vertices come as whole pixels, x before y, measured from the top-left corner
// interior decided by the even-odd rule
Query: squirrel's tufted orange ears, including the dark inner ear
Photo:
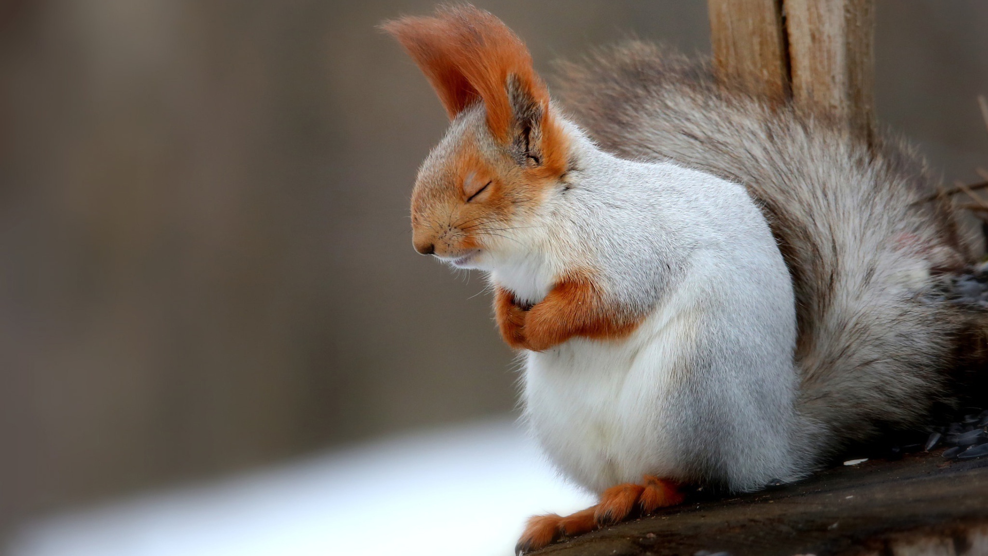
[[[439,8],[381,28],[404,46],[453,119],[483,101],[491,134],[520,163],[565,171],[565,140],[532,55],[501,20],[470,5]]]

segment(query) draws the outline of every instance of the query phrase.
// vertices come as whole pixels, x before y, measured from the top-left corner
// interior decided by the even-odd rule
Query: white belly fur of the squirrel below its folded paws
[[[526,416],[553,462],[584,487],[599,493],[643,474],[682,475],[663,428],[676,421],[665,401],[695,350],[700,315],[689,289],[627,338],[574,338],[529,353]]]

